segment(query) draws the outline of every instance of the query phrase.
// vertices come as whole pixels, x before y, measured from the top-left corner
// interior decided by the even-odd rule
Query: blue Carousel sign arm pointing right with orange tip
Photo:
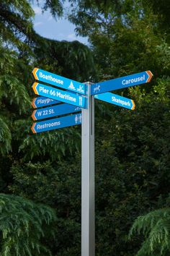
[[[97,82],[96,84],[91,85],[91,95],[141,85],[143,83],[150,82],[152,77],[153,74],[148,70],[137,74],[130,74],[126,77],[118,77],[104,82]]]

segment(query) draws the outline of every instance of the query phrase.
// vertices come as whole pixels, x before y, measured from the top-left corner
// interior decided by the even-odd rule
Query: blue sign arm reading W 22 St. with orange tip
[[[48,108],[39,108],[32,113],[33,120],[47,119],[54,116],[60,116],[64,114],[70,114],[81,111],[81,108],[73,106],[67,103],[63,103],[56,106],[50,106]]]

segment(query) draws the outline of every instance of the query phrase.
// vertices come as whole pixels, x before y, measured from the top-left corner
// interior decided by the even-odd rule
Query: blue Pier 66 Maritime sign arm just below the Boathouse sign
[[[75,93],[68,93],[68,91],[55,89],[48,85],[42,85],[37,82],[34,82],[32,88],[37,95],[52,98],[55,101],[61,101],[74,106],[79,106],[81,108],[86,108],[86,98],[82,97],[81,95],[76,95]]]

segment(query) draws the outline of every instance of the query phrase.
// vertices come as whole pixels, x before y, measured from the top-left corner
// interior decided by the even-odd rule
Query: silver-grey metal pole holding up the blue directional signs
[[[81,256],[94,256],[94,96],[91,83],[86,85],[88,107],[81,110]]]

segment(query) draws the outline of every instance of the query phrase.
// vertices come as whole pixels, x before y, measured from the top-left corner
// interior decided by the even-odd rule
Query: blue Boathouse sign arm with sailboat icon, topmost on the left
[[[35,80],[46,82],[50,85],[54,85],[59,88],[66,90],[72,90],[74,93],[86,94],[85,88],[86,85],[81,82],[76,82],[74,80],[68,79],[66,77],[61,77],[58,74],[53,74],[42,69],[33,69],[32,74],[35,77]]]

